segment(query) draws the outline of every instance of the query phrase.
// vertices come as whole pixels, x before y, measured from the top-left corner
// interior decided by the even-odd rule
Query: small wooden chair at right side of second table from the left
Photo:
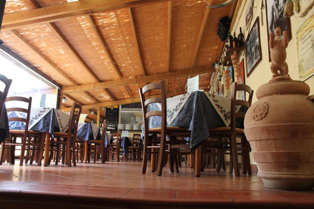
[[[105,154],[105,134],[107,129],[108,122],[105,119],[104,125],[101,131],[101,138],[100,140],[89,140],[88,146],[88,153],[94,153],[94,163],[99,156],[101,156],[101,163],[104,164],[106,161],[106,154]]]

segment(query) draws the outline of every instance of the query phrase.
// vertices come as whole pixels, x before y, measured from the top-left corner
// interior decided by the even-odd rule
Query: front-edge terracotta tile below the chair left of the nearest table
[[[149,205],[174,206],[176,190],[170,189],[132,189],[120,197],[122,204],[141,202]],[[162,200],[162,202],[160,201]]]

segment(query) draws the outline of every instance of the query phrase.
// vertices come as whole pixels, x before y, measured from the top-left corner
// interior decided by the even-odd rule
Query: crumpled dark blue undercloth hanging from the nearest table
[[[148,107],[148,112],[160,110],[158,106],[153,103]],[[239,112],[246,112],[247,107],[242,106]],[[230,119],[230,118],[229,118]],[[161,126],[161,117],[152,116],[148,120],[149,128],[157,128]],[[224,121],[220,118],[212,103],[203,91],[194,91],[188,98],[185,105],[177,117],[167,126],[176,126],[186,128],[191,131],[191,137],[186,138],[190,141],[190,149],[194,152],[200,144],[209,137],[209,128],[226,127]],[[236,119],[236,127],[244,128],[244,118]],[[142,139],[144,129],[142,131]]]

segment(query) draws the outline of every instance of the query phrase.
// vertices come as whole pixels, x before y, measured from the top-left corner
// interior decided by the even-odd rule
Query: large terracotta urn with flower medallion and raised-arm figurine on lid
[[[270,34],[272,79],[256,91],[247,111],[244,133],[252,147],[258,176],[268,188],[312,190],[314,186],[314,96],[288,74],[288,37],[280,28]]]

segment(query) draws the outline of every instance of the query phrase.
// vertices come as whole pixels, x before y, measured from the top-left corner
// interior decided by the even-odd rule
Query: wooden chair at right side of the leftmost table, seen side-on
[[[78,130],[78,119],[81,115],[82,106],[73,102],[72,110],[69,119],[69,128],[67,133],[53,132],[54,138],[50,141],[50,160],[53,156],[53,148],[56,147],[56,162],[58,165],[60,154],[62,154],[62,164],[67,163],[68,167],[72,166],[71,159],[73,160],[73,165],[76,166],[75,161],[75,151],[76,151],[76,134]],[[71,141],[72,140],[72,141]]]

